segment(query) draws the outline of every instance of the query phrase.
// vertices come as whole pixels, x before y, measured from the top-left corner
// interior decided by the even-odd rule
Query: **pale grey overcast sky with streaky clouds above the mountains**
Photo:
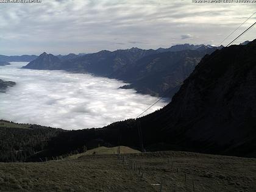
[[[68,54],[172,44],[218,45],[256,11],[252,4],[191,0],[42,0],[0,4],[0,54]],[[256,20],[256,14],[229,43]],[[255,38],[250,30],[236,43]]]

